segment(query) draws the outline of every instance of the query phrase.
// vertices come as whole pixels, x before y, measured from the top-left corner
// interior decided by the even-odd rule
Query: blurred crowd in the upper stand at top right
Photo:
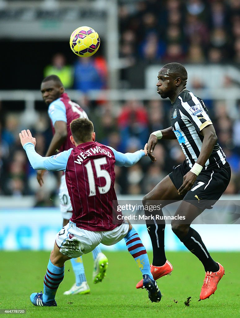
[[[240,63],[239,0],[122,1],[119,21],[126,88],[149,64]]]

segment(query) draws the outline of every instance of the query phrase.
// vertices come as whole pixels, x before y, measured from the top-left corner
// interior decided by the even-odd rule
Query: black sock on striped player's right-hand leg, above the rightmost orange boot
[[[192,252],[203,263],[205,272],[217,272],[219,265],[211,258],[201,236],[190,227],[187,235],[181,240],[186,248]]]

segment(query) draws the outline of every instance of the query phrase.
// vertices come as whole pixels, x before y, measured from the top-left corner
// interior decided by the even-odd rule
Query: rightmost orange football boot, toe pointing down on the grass
[[[219,283],[219,280],[224,275],[224,267],[219,263],[217,264],[219,265],[219,270],[217,272],[207,272],[205,275],[203,287],[200,293],[200,300],[209,298],[212,294],[214,294],[214,292],[217,289],[217,284]]]

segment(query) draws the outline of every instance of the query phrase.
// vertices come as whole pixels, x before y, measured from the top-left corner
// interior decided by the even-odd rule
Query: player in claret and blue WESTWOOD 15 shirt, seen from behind
[[[55,294],[64,277],[65,261],[91,252],[100,243],[113,245],[123,238],[128,251],[140,264],[143,287],[147,289],[149,299],[159,302],[161,293],[153,280],[146,249],[132,225],[119,221],[122,214],[115,204],[114,165],[134,165],[146,156],[147,144],[144,150],[123,154],[95,142],[93,123],[86,118],[73,120],[70,128],[70,140],[75,147],[51,157],[36,153],[36,140],[30,130],[19,134],[34,169],[65,171],[73,207],[69,223],[56,236],[44,277],[44,292],[31,294],[31,302],[35,306],[56,306]]]

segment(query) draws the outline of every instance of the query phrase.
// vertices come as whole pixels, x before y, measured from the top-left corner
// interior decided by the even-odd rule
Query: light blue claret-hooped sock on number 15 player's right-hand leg
[[[151,279],[153,279],[146,248],[142,244],[137,231],[132,228],[132,230],[127,233],[124,239],[128,252],[135,259],[140,271],[142,272],[142,275],[147,274]]]

